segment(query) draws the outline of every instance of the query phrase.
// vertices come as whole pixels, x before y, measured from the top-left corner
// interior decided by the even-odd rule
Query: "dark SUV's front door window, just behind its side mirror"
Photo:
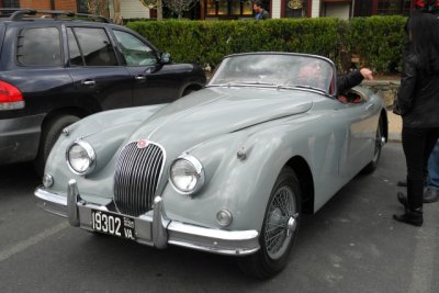
[[[156,65],[156,52],[136,36],[122,31],[113,31],[121,53],[128,66]]]

